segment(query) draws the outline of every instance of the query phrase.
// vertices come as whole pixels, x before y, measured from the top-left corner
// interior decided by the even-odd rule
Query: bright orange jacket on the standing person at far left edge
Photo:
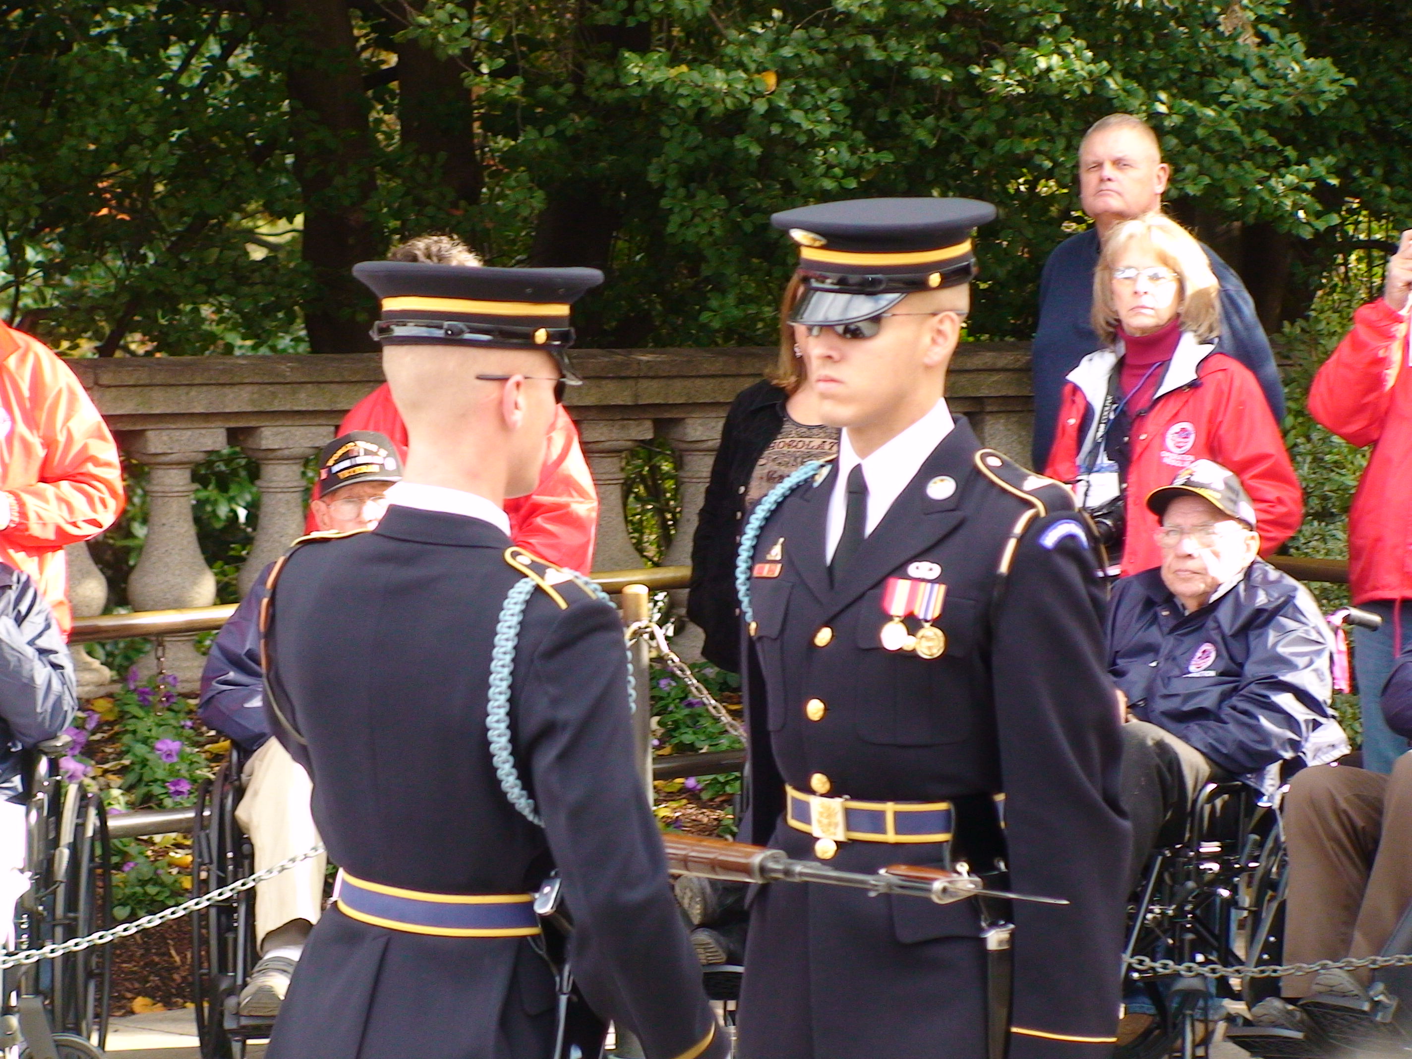
[[[64,545],[123,510],[123,467],[79,380],[38,339],[0,323],[0,561],[34,579],[65,634]]]

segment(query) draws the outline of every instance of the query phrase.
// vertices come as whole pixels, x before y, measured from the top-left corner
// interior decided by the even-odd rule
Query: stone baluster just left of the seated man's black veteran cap
[[[236,443],[260,465],[260,524],[250,555],[240,568],[240,594],[250,592],[260,570],[304,535],[304,462],[333,438],[330,426],[250,426],[236,431]]]

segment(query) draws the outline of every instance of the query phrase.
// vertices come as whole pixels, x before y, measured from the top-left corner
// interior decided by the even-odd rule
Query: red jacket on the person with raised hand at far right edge
[[[1412,373],[1408,322],[1378,298],[1309,388],[1309,414],[1350,445],[1372,446],[1348,510],[1353,602],[1412,597]]]

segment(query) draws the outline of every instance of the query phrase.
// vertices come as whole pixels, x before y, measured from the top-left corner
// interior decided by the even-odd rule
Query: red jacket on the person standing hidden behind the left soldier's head
[[[387,383],[364,397],[339,424],[339,433],[381,431],[407,459],[407,425],[393,404]],[[579,448],[579,429],[559,405],[545,450],[539,483],[527,497],[505,501],[510,535],[521,548],[558,566],[593,569],[593,537],[599,527],[599,494]]]

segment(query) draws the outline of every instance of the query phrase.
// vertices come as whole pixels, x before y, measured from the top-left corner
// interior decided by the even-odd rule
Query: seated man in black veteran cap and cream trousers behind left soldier
[[[309,503],[322,532],[371,530],[387,510],[384,496],[402,477],[397,449],[384,435],[353,431],[329,442],[319,456],[321,496]],[[271,563],[273,565],[273,563]],[[244,796],[236,822],[254,846],[256,871],[304,853],[319,842],[309,810],[308,772],[270,738],[260,665],[260,602],[268,568],[222,627],[201,678],[201,719],[250,754]],[[332,617],[332,616],[330,616]],[[240,1014],[280,1014],[294,964],[323,909],[325,857],[256,887],[256,938],[260,962],[240,993]]]

